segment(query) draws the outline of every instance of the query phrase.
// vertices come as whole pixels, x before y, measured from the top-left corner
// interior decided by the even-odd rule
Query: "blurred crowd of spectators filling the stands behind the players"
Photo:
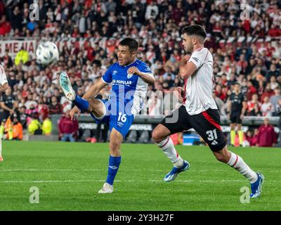
[[[205,46],[214,56],[214,98],[221,114],[229,113],[226,101],[236,82],[247,96],[245,115],[281,114],[280,1],[247,1],[243,11],[240,1],[40,0],[39,20],[30,19],[32,3],[0,0],[0,37],[68,37],[84,42],[60,46],[58,63],[46,68],[32,58],[15,65],[8,51],[0,58],[15,101],[4,114],[16,113],[23,127],[34,117],[43,122],[49,115],[67,113],[72,105],[58,86],[59,72],[65,70],[75,91],[84,94],[116,62],[123,37],[136,38],[140,44],[138,58],[150,65],[157,80],[149,90],[166,93],[183,86],[178,76],[184,56],[181,28],[194,24],[207,31]],[[100,98],[107,98],[109,89]],[[155,110],[161,101],[148,104],[145,113],[161,112]]]

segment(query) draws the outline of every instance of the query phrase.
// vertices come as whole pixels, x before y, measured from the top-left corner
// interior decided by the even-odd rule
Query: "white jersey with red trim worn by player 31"
[[[196,49],[188,62],[194,63],[197,68],[188,79],[185,79],[183,105],[188,114],[197,115],[209,108],[218,109],[213,98],[213,56],[210,51],[203,47]]]

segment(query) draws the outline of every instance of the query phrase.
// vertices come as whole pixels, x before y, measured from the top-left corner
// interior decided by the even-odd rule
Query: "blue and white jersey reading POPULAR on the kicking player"
[[[110,101],[112,104],[117,104],[117,113],[124,110],[128,113],[130,110],[131,114],[136,115],[141,110],[148,84],[138,75],[128,74],[127,70],[131,67],[153,76],[148,65],[136,59],[130,65],[119,65],[119,63],[111,65],[102,79],[106,84],[112,83]]]

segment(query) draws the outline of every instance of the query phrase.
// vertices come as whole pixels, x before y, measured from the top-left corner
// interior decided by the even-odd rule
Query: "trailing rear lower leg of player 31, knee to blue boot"
[[[227,148],[223,148],[223,150],[213,152],[216,156],[216,159],[225,162],[236,169],[240,174],[245,176],[251,183],[251,194],[250,198],[257,198],[261,195],[261,188],[263,185],[264,176],[259,172],[254,172],[245,162],[244,160],[235,153],[230,152]]]

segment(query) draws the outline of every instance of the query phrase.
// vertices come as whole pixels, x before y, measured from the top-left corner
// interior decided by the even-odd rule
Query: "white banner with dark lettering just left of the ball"
[[[23,40],[1,40],[0,41],[0,57],[5,56],[5,51],[8,49],[9,56],[15,58],[15,55],[20,49],[25,49],[31,58],[35,58],[35,51],[37,48],[36,39],[23,39]]]

